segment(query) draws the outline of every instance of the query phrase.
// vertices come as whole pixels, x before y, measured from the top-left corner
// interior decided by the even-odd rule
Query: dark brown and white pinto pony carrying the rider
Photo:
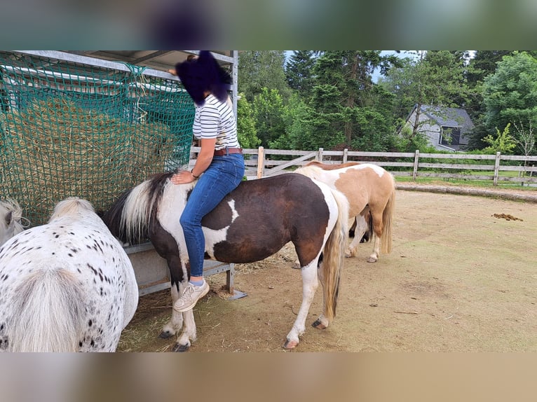
[[[123,194],[104,214],[114,235],[127,242],[149,238],[168,261],[172,301],[189,279],[189,256],[179,217],[194,183],[174,185],[172,173],[158,174]],[[309,307],[318,287],[324,310],[315,328],[326,328],[336,314],[339,273],[344,263],[348,230],[347,200],[338,191],[301,174],[283,174],[243,181],[203,218],[205,258],[224,263],[252,263],[292,242],[301,265],[302,303],[284,347],[298,345],[306,330]],[[318,261],[323,253],[322,263]],[[184,352],[196,340],[193,310],[172,311],[162,338],[179,333],[173,350]]]

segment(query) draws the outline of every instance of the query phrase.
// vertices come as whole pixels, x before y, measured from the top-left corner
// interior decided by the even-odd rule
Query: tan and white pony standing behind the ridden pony
[[[369,240],[373,238],[374,244],[367,262],[375,263],[381,250],[384,253],[391,251],[395,180],[386,169],[370,163],[327,165],[312,161],[295,172],[322,181],[346,195],[349,219],[354,220],[353,227],[355,226],[354,239],[346,251],[347,257],[355,254],[356,247],[368,229]]]

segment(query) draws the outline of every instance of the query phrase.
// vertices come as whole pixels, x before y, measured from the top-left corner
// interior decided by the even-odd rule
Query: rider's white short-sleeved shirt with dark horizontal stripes
[[[224,148],[240,148],[237,139],[237,123],[228,102],[220,102],[209,95],[202,106],[196,105],[192,127],[196,139],[217,139],[215,151]]]

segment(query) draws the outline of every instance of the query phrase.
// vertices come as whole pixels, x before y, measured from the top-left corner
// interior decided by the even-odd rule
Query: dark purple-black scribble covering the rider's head
[[[205,91],[210,91],[220,102],[226,102],[233,81],[208,50],[201,50],[198,57],[187,57],[186,61],[177,63],[175,71],[196,104],[205,103]]]

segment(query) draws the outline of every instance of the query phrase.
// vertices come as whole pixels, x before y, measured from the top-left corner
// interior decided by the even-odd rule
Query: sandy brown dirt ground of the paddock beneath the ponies
[[[294,352],[536,352],[537,204],[493,197],[397,190],[393,249],[367,263],[360,244],[341,276],[337,317],[311,327]],[[225,275],[194,309],[198,340],[189,352],[286,352],[301,303],[290,244],[253,264],[236,265],[226,300]],[[118,352],[168,352],[158,338],[171,313],[170,291],[140,298]]]

